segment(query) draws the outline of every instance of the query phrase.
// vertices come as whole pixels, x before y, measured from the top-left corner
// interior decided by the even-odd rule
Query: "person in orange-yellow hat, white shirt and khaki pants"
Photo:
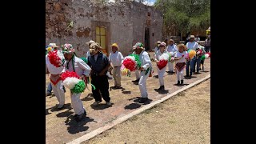
[[[123,56],[122,53],[119,52],[119,47],[117,43],[112,44],[112,52],[110,53],[110,62],[113,67],[113,78],[114,78],[114,88],[121,88],[121,74],[120,68],[122,65]]]

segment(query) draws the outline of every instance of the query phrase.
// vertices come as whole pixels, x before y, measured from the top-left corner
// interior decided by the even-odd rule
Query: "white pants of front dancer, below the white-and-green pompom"
[[[71,94],[71,105],[74,109],[74,114],[80,115],[80,114],[84,113],[85,108],[83,107],[82,101],[80,99],[80,96],[82,93],[79,93],[79,94],[73,93],[72,94],[70,92],[70,94]]]

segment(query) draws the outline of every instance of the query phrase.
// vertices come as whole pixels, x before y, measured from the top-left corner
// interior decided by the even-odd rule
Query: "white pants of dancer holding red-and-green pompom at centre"
[[[149,78],[149,75],[150,75],[150,71],[146,75],[145,75],[145,71],[142,71],[140,74],[138,87],[141,92],[142,98],[147,98],[146,79]]]

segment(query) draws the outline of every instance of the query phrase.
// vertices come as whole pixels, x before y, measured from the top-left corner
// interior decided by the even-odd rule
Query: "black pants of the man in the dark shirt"
[[[95,86],[95,90],[92,88],[95,101],[102,102],[102,98],[103,98],[106,102],[110,102],[109,81],[107,76],[92,75],[91,83]],[[100,92],[102,93],[102,97]]]

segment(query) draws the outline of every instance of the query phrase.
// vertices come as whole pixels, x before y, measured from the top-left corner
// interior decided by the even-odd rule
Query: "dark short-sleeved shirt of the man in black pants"
[[[88,66],[94,70],[94,73],[99,74],[102,70],[110,64],[106,54],[98,53],[97,61],[95,62],[94,55],[88,57]],[[107,72],[107,71],[106,71]],[[105,74],[106,74],[105,72]]]

